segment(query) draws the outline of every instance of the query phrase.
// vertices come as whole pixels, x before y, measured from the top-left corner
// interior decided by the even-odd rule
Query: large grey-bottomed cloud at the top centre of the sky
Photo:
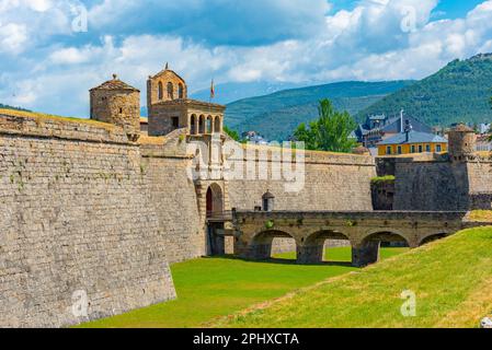
[[[208,45],[262,45],[314,35],[329,9],[327,0],[104,0],[89,18],[106,33],[165,32]]]

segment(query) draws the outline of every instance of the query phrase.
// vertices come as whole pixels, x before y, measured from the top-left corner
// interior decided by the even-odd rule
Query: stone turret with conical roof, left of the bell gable
[[[113,79],[90,90],[91,119],[124,128],[128,140],[140,137],[140,91]]]

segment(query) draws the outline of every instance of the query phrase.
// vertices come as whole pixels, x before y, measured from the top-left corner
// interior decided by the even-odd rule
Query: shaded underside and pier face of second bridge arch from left
[[[351,238],[341,232],[323,230],[310,234],[299,246],[297,261],[299,264],[321,264],[324,260],[327,241],[346,241],[352,245]]]

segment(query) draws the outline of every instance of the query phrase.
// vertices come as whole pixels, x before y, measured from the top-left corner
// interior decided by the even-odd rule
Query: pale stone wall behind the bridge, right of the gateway
[[[245,154],[244,159],[253,154]],[[230,207],[253,210],[262,206],[262,196],[270,190],[275,196],[275,210],[373,210],[370,179],[376,176],[376,167],[370,156],[306,151],[302,158],[299,190],[286,189],[286,183],[293,182],[284,177],[275,179],[272,168],[283,165],[268,155],[266,161],[255,163],[256,173],[260,167],[267,168],[267,176],[251,179],[244,174],[244,179],[228,182]],[[287,166],[295,168],[297,164]]]

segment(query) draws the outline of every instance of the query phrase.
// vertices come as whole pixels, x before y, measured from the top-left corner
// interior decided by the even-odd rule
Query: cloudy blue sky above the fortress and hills
[[[490,51],[492,0],[0,0],[0,103],[70,116],[167,61],[197,91],[421,79]]]

